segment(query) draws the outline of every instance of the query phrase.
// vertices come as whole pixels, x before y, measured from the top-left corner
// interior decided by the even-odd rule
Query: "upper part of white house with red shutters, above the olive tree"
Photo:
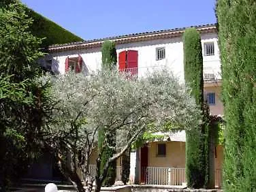
[[[195,28],[202,38],[204,87],[210,112],[223,115],[223,106],[219,99],[221,62],[217,28],[215,25]],[[168,69],[184,82],[182,43],[184,31],[185,28],[170,29],[54,45],[48,48],[50,54],[41,59],[40,63],[60,74],[65,74],[69,69],[81,71],[85,75],[93,73],[101,69],[101,45],[108,39],[116,44],[119,69],[131,71],[131,74],[139,77],[148,71]]]

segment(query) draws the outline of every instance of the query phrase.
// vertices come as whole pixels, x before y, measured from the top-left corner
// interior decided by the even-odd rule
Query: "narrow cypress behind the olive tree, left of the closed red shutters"
[[[102,69],[111,71],[116,66],[116,46],[114,42],[105,41],[101,47]],[[116,153],[116,133],[108,130],[107,127],[102,127],[99,130],[98,146],[101,149],[101,172],[106,161]],[[102,146],[104,146],[102,148]],[[103,182],[103,186],[114,185],[116,180],[116,161],[110,164],[108,175]]]

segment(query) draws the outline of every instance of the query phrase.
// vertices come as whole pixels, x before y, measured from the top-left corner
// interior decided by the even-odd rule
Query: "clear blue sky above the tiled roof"
[[[21,1],[83,39],[216,22],[216,0]]]

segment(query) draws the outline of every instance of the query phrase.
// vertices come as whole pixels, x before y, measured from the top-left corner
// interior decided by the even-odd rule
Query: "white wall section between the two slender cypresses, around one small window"
[[[165,59],[156,60],[156,48],[165,48]],[[183,44],[181,37],[135,42],[116,46],[117,53],[123,50],[138,50],[138,76],[148,71],[169,69],[184,82]]]

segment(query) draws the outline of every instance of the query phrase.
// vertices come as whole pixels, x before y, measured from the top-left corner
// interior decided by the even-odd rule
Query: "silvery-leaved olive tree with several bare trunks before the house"
[[[193,129],[200,123],[200,112],[189,90],[167,72],[140,80],[127,80],[113,71],[90,77],[66,74],[52,78],[52,88],[55,121],[47,128],[51,133],[47,146],[59,159],[61,170],[76,182],[78,191],[84,191],[78,167],[83,167],[83,174],[90,178],[89,158],[97,148],[99,127],[104,127],[108,135],[116,135],[116,153],[107,159],[101,172],[100,159],[108,140],[97,149],[97,173],[91,178],[95,191],[101,189],[110,163],[143,133],[168,131],[166,123],[177,129]]]

